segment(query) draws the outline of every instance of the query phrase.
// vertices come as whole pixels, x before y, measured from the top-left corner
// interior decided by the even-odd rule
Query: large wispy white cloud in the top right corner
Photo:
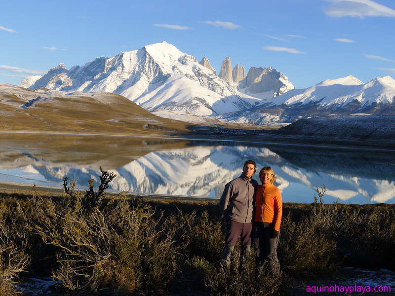
[[[395,17],[395,10],[372,0],[327,0],[331,4],[324,9],[332,17],[386,16]]]

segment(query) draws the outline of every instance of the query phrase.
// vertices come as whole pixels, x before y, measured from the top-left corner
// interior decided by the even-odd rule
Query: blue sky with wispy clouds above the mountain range
[[[297,88],[395,77],[394,0],[3,1],[0,83],[165,40],[219,70],[272,66]]]

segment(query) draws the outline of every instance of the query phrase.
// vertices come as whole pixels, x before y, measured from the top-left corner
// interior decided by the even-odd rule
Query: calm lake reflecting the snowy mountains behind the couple
[[[283,202],[395,203],[394,151],[234,141],[1,134],[0,182],[86,188],[99,167],[117,177],[112,190],[219,198],[253,159],[271,166]],[[253,178],[259,181],[258,171]],[[97,184],[97,182],[96,182]]]

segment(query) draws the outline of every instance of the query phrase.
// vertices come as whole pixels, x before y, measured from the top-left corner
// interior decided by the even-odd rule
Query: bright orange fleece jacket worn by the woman
[[[278,231],[282,218],[282,198],[280,189],[270,183],[257,186],[255,205],[254,221],[274,223],[274,228]]]

